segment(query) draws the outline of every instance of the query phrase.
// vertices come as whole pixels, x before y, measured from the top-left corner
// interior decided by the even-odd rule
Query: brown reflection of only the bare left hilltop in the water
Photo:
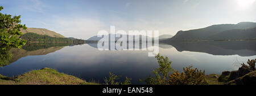
[[[30,55],[46,55],[49,53],[53,53],[57,50],[62,49],[64,46],[56,46],[56,47],[49,47],[47,49],[39,49],[39,50],[34,50],[34,51],[27,51],[24,49],[11,49],[10,53],[13,54],[13,58],[9,60],[10,63],[15,62],[16,60],[23,58],[25,56],[30,56]]]

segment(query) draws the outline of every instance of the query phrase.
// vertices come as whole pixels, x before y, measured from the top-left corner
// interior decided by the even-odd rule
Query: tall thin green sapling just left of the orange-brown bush
[[[155,77],[149,76],[146,78],[146,83],[150,85],[166,85],[168,84],[168,75],[174,70],[171,67],[172,62],[169,62],[168,57],[156,55],[155,58],[158,60],[159,68],[154,69]]]

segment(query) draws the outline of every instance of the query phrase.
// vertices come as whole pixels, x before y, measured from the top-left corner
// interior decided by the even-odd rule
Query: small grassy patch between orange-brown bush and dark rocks
[[[220,75],[212,74],[212,75],[205,75],[207,78],[207,82],[209,85],[224,85],[223,82],[218,82],[218,77]]]

